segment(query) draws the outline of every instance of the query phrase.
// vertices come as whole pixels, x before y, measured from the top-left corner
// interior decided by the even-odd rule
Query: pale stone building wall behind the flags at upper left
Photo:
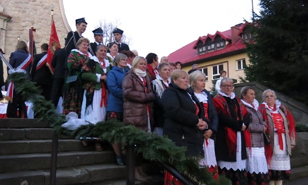
[[[15,50],[18,40],[28,42],[29,28],[31,25],[36,28],[33,33],[37,53],[40,53],[40,45],[48,43],[51,29],[51,5],[54,6],[53,19],[59,37],[61,47],[64,46],[64,37],[70,30],[65,17],[62,0],[3,0],[0,2],[3,11],[0,14],[5,14],[11,18],[6,22],[6,27],[1,28],[0,43],[2,50],[5,52],[4,57],[8,60],[11,52]],[[5,34],[5,35],[3,35]],[[5,40],[3,40],[3,38]],[[3,64],[3,66],[6,66]],[[4,67],[5,68],[5,67]],[[6,71],[4,71],[6,78]]]

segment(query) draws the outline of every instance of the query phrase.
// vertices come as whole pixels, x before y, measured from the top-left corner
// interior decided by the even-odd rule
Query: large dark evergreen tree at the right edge
[[[308,104],[308,0],[260,0],[248,30],[251,64],[246,80],[258,81]]]

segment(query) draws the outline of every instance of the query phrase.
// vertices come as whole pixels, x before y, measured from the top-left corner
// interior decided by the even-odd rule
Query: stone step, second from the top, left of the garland
[[[73,136],[59,135],[59,138]],[[52,128],[0,128],[0,140],[52,139]]]

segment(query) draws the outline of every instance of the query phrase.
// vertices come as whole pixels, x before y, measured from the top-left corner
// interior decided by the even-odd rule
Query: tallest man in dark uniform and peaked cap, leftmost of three
[[[68,68],[67,68],[67,58],[72,49],[76,49],[77,47],[77,41],[80,37],[83,37],[81,34],[85,31],[87,27],[87,22],[85,21],[85,18],[78,18],[76,19],[76,31],[69,31],[67,33],[67,37],[65,40],[65,63],[64,63],[64,76],[66,77],[68,74]]]

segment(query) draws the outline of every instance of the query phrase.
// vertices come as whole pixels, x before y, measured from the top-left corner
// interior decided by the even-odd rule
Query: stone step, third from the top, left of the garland
[[[0,141],[0,155],[51,152],[51,139],[45,140],[5,140]],[[58,151],[94,150],[94,146],[84,147],[77,139],[59,139]]]

